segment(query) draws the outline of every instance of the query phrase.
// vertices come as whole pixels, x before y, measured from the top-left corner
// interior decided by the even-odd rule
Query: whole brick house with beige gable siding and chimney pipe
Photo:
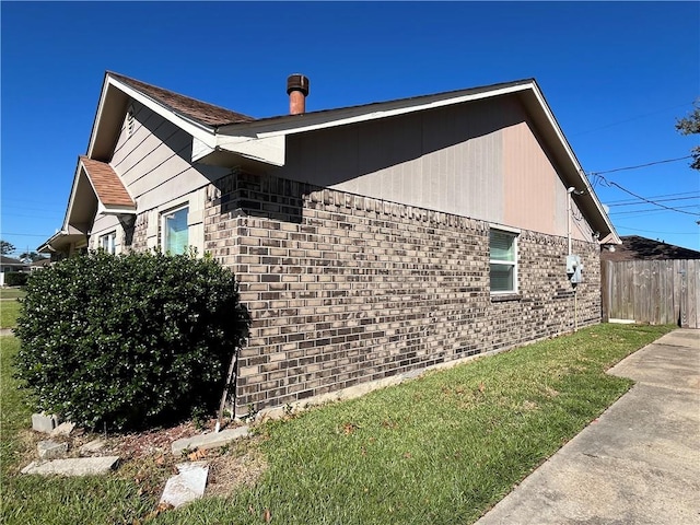
[[[256,119],[107,72],[40,252],[194,246],[231,268],[241,412],[600,322],[619,237],[534,80],[311,113],[307,93],[290,77],[291,114]]]

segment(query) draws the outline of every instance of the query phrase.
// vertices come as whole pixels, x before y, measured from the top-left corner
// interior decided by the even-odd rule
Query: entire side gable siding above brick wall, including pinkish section
[[[288,137],[279,176],[567,235],[567,188],[509,97]],[[575,209],[575,205],[574,205]],[[573,217],[581,218],[574,210]],[[591,241],[585,220],[572,236]]]

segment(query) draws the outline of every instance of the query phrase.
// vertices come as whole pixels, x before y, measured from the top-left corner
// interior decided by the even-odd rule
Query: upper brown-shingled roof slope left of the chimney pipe
[[[191,118],[202,125],[219,127],[230,124],[249,122],[255,120],[253,117],[241,113],[232,112],[225,107],[215,106],[207,102],[198,101],[189,96],[180,95],[173,91],[164,90],[156,85],[147,84],[140,80],[125,77],[124,74],[107,72],[112,78],[117,79],[135,90],[140,91],[144,95],[150,96],[163,106],[168,107],[175,113]]]

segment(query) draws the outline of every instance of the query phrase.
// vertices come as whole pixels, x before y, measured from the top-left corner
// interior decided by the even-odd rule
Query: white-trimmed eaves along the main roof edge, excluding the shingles
[[[119,75],[117,75],[119,77]],[[515,96],[533,119],[567,187],[583,190],[576,206],[586,215],[600,244],[620,244],[600,201],[567,141],[534,79],[423,95],[302,115],[287,115],[231,125],[208,126],[174,112],[114,74],[106,73],[91,133],[88,156],[108,162],[129,101],[136,100],[192,137],[191,162],[222,165],[283,166],[287,136],[407,115],[500,96]],[[101,209],[102,212],[107,211]]]

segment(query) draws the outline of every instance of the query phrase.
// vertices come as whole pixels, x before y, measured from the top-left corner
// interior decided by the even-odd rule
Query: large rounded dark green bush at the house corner
[[[209,258],[91,253],[30,279],[18,377],[36,409],[88,428],[212,410],[247,335],[233,275]]]

